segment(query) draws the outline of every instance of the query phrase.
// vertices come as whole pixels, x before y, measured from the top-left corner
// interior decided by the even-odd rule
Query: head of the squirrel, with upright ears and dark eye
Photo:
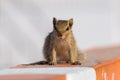
[[[72,25],[73,25],[72,18],[69,20],[57,20],[55,17],[53,18],[53,27],[59,36],[63,36],[71,32]]]

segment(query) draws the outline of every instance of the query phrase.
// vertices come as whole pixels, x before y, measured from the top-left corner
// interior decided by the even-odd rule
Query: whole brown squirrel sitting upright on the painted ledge
[[[53,18],[53,31],[45,39],[43,54],[46,61],[31,64],[55,65],[59,61],[77,65],[85,60],[86,56],[78,50],[72,33],[73,19],[57,20]]]

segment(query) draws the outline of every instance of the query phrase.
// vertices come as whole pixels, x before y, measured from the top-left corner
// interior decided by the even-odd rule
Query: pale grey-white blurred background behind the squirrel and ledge
[[[81,50],[120,44],[119,0],[0,0],[0,69],[43,60],[52,19],[74,19]]]

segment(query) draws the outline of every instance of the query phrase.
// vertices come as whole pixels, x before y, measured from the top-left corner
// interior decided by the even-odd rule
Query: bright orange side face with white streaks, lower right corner
[[[120,80],[120,58],[93,66],[97,80]]]

